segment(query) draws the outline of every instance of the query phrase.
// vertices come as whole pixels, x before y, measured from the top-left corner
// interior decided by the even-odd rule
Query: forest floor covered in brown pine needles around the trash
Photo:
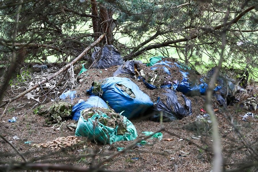
[[[98,76],[98,78],[100,77]],[[8,92],[8,97],[14,96],[10,91]],[[70,124],[72,120],[64,122],[60,128],[46,125],[46,119],[34,114],[33,109],[31,109],[36,101],[35,103],[28,103],[25,107],[17,108],[18,105],[25,102],[28,102],[28,99],[23,97],[0,109],[0,114],[3,114],[5,110],[0,119],[0,131],[25,156],[27,161],[91,167],[117,153],[118,147],[126,148],[126,146],[134,143],[133,140],[115,142],[112,145],[101,145],[87,140],[85,137],[79,137],[80,140],[86,140],[86,142],[69,150],[66,150],[66,148],[61,150],[34,148],[32,144],[52,141],[59,137],[74,136],[75,131],[67,128],[67,124]],[[43,104],[49,105],[51,103],[49,101]],[[116,171],[211,171],[214,155],[212,150],[212,127],[211,124],[196,125],[196,116],[201,113],[198,110],[204,108],[204,103],[193,103],[193,106],[195,106],[195,111],[193,111],[192,116],[163,123],[165,131],[162,131],[163,138],[161,140],[148,138],[146,139],[147,144],[141,147],[135,146],[125,153],[117,155],[114,159],[105,162],[102,167]],[[223,109],[220,107],[220,110],[215,112],[215,116],[218,120],[221,136],[224,167],[225,169],[235,169],[253,161],[248,146],[244,146],[243,142],[258,147],[258,120],[257,118],[249,118],[247,121],[243,121],[239,115],[243,116],[247,112],[239,107],[239,104],[230,105],[226,112],[222,113],[222,111]],[[257,113],[256,111],[251,112]],[[17,122],[9,123],[8,120],[13,116],[17,116]],[[227,116],[234,120],[228,120]],[[137,130],[137,139],[144,137],[142,132],[155,132],[161,127],[159,122],[147,119],[130,121]],[[245,138],[244,141],[243,138],[239,137],[239,132],[232,127],[231,122],[237,125]],[[13,139],[14,136],[17,136],[19,140]],[[25,144],[28,141],[32,141],[32,144]],[[22,161],[13,148],[3,140],[0,141],[0,152],[2,154],[2,157],[0,156],[1,164]]]

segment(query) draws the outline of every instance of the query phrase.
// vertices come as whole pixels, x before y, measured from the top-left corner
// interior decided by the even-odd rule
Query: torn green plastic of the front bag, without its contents
[[[101,119],[103,121],[103,118],[109,118],[107,114],[103,112],[95,111],[95,114],[93,116],[89,117],[87,120],[85,120],[82,116],[79,118],[77,128],[75,131],[75,136],[84,136],[88,137],[91,140],[95,140],[97,142],[101,142],[103,144],[112,144],[114,142],[118,141],[128,141],[128,140],[134,140],[137,138],[137,132],[132,124],[126,117],[123,117],[123,123],[126,125],[126,131],[124,134],[119,134],[119,126],[116,125],[115,128],[105,126],[103,125],[99,120]],[[120,113],[121,115],[121,113]]]

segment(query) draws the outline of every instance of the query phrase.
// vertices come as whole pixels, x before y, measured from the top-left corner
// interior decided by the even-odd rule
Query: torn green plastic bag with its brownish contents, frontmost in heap
[[[93,115],[89,109],[94,109]],[[103,144],[112,144],[118,141],[128,141],[137,138],[138,135],[134,125],[126,117],[121,116],[122,113],[117,114],[122,118],[122,125],[120,125],[121,123],[116,124],[116,119],[112,119],[114,116],[110,118],[110,114],[114,114],[115,112],[110,112],[110,110],[105,108],[94,107],[89,109],[81,111],[75,136],[85,136]],[[87,111],[89,113],[85,116],[85,112]],[[104,112],[108,113],[109,116]],[[87,118],[86,120],[83,115]]]

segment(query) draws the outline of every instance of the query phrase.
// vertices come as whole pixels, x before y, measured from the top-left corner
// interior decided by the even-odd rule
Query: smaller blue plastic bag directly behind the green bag
[[[82,102],[76,103],[73,106],[73,109],[72,109],[73,120],[77,121],[81,115],[81,111],[83,111],[87,108],[90,108],[90,107],[108,108],[105,101],[103,99],[101,99],[99,96],[90,96],[89,99],[87,99],[87,101],[82,101]]]

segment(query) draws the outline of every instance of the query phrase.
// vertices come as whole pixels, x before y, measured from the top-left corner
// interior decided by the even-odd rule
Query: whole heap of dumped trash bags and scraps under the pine
[[[167,57],[152,57],[148,64],[136,60],[123,62],[113,46],[98,50],[92,58],[94,68],[83,67],[77,76],[76,89],[62,93],[61,102],[48,110],[38,107],[36,113],[48,114],[54,122],[72,118],[78,121],[75,136],[86,136],[103,144],[136,139],[136,129],[129,121],[132,118],[173,121],[191,116],[193,108],[203,106],[196,101],[199,106],[192,107],[192,97],[203,99],[214,73],[211,69],[206,76],[198,75]],[[235,97],[237,91],[244,89],[221,75],[214,88],[214,103],[239,102]],[[247,99],[244,108],[256,109],[253,102],[257,106],[257,99]]]

